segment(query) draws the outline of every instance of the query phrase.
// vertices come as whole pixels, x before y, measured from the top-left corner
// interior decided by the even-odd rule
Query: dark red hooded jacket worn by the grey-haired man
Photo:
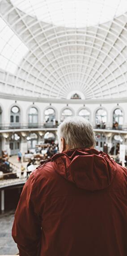
[[[127,169],[94,149],[55,154],[15,213],[20,256],[127,256]]]

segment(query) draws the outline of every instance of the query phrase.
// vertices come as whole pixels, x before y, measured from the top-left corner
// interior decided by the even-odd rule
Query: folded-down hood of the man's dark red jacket
[[[116,163],[95,149],[73,149],[52,157],[55,171],[78,188],[102,190],[114,179]]]

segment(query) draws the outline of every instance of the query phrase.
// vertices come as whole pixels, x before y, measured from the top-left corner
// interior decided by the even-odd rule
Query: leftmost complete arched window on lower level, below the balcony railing
[[[14,133],[10,138],[10,154],[15,155],[20,150],[21,138],[17,133]]]

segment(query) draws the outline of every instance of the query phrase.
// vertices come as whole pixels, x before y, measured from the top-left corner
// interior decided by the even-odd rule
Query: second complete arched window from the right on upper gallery
[[[107,113],[104,109],[98,109],[95,115],[96,128],[105,129],[107,122]]]

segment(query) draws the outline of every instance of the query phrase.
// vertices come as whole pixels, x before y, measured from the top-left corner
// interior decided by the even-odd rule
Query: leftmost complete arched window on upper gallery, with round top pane
[[[17,106],[11,108],[10,123],[13,125],[19,125],[20,123],[20,109]]]

